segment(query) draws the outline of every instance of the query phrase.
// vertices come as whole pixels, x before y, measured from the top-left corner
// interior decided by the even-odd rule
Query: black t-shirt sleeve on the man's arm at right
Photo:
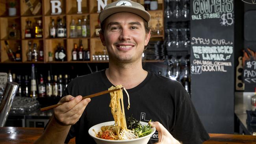
[[[177,104],[173,137],[182,144],[202,144],[210,137],[200,121],[189,94],[185,89],[180,89],[177,93],[180,94],[178,96],[180,104]]]

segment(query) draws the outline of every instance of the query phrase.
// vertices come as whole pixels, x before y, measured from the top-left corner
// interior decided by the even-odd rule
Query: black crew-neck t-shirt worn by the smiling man
[[[69,83],[63,96],[87,96],[107,90],[112,84],[105,72],[106,70],[102,70],[75,78]],[[125,109],[126,117],[132,115],[143,122],[158,121],[183,144],[201,144],[209,138],[189,95],[179,82],[148,72],[142,83],[127,91],[130,96],[130,109]],[[71,126],[65,143],[76,137],[76,144],[95,144],[88,130],[96,124],[114,120],[109,102],[109,94],[91,98],[80,120]],[[124,92],[124,107],[127,106],[128,98]],[[148,144],[157,141],[156,131]]]

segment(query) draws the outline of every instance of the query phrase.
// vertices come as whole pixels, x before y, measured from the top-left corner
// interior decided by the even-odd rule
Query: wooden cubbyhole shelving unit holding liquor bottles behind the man
[[[9,2],[16,2],[17,15],[15,17],[8,16],[8,4]],[[78,44],[79,39],[82,39],[83,47],[90,50],[90,55],[92,56],[95,53],[103,52],[104,46],[102,46],[99,37],[95,36],[95,26],[98,24],[98,14],[97,13],[97,1],[96,0],[83,0],[82,1],[82,13],[77,13],[77,2],[76,0],[59,0],[61,2],[62,12],[59,15],[51,15],[51,4],[50,0],[30,0],[35,6],[37,3],[41,2],[41,9],[36,15],[32,15],[29,7],[26,5],[25,0],[1,0],[0,1],[0,63],[107,63],[102,61],[72,61],[72,49],[74,43]],[[111,3],[115,0],[108,0],[108,3]],[[140,4],[144,4],[144,0],[134,0]],[[158,10],[148,11],[152,17],[152,20],[149,22],[150,26],[155,27],[157,20],[156,16],[161,15],[160,23],[162,26],[162,34],[153,35],[151,34],[152,40],[163,40],[164,38],[164,22],[163,22],[163,0],[158,0]],[[55,23],[57,18],[60,17],[66,23],[67,27],[67,37],[65,38],[50,38],[49,37],[49,24],[50,20],[54,19]],[[78,18],[86,17],[89,20],[90,26],[90,35],[87,38],[70,38],[69,36],[69,27],[72,18],[75,19],[76,23]],[[25,26],[26,21],[32,21],[34,26],[37,20],[42,20],[43,24],[43,38],[40,39],[25,39]],[[88,22],[88,21],[87,21]],[[12,24],[17,25],[19,30],[19,38],[9,39],[8,30]],[[13,52],[17,51],[17,47],[21,46],[22,49],[22,62],[12,62],[9,60],[6,53],[6,45],[4,41],[9,42],[9,46]],[[28,42],[32,41],[37,43],[38,50],[39,46],[44,48],[44,61],[43,62],[28,62],[26,58],[26,53],[28,52]],[[48,52],[54,54],[57,49],[57,45],[61,44],[64,46],[67,52],[67,61],[48,61]],[[54,59],[54,55],[53,55]],[[161,61],[145,61],[145,62],[161,62]]]

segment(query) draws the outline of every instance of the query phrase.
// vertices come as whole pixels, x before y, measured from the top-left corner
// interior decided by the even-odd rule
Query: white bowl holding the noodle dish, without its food
[[[143,126],[147,125],[147,122],[140,122]],[[98,133],[98,131],[101,131],[100,128],[102,126],[110,126],[115,124],[115,121],[111,121],[111,122],[103,122],[100,124],[97,124],[93,127],[91,127],[89,129],[89,135],[95,140],[95,142],[97,144],[113,144],[113,143],[118,143],[118,144],[147,144],[150,137],[156,132],[156,128],[152,127],[151,129],[153,129],[153,131],[149,134],[146,135],[145,137],[140,137],[140,138],[135,138],[135,139],[131,139],[131,140],[105,140],[102,138],[97,138],[95,133],[93,132],[93,129],[96,131],[96,133]]]

